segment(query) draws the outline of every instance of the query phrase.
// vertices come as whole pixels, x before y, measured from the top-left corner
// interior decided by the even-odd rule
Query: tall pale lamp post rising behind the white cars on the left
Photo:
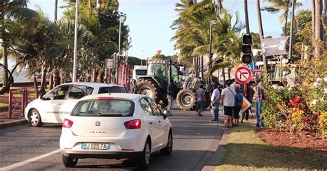
[[[77,25],[79,21],[79,0],[76,0],[75,5],[75,40],[74,40],[74,62],[72,67],[72,82],[75,83],[77,81]]]

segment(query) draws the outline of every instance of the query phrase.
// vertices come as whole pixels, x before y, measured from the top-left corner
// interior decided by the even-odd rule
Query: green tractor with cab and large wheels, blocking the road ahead
[[[164,108],[168,105],[166,96],[170,79],[174,81],[177,88],[176,99],[179,108],[193,110],[197,101],[195,91],[201,84],[205,85],[205,81],[183,76],[170,60],[148,61],[147,75],[137,79],[137,94],[150,97]]]

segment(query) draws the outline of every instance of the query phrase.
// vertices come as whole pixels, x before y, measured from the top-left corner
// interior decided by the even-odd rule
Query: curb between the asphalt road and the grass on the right
[[[215,170],[217,164],[221,161],[222,157],[224,156],[225,145],[227,145],[228,143],[229,134],[230,134],[230,129],[224,130],[223,137],[220,140],[216,152],[212,155],[211,159],[204,166],[204,168],[202,168],[202,171]]]

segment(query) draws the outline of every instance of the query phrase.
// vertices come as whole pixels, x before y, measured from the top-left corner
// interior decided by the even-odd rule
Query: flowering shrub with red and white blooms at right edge
[[[320,59],[302,63],[301,79],[296,86],[267,86],[268,99],[262,109],[266,127],[327,138],[326,61],[325,52]]]

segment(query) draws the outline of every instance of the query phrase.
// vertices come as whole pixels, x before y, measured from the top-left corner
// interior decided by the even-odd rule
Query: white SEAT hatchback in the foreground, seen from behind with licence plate
[[[170,112],[141,94],[97,94],[83,97],[63,121],[60,149],[63,165],[78,159],[136,158],[146,169],[150,154],[172,152]]]

